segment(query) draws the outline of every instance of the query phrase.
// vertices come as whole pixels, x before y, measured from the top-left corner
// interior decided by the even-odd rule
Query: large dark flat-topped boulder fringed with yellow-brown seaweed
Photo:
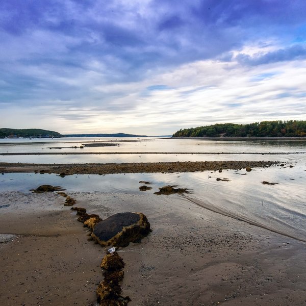
[[[127,246],[150,232],[150,223],[142,213],[118,213],[98,222],[91,234],[102,246]]]

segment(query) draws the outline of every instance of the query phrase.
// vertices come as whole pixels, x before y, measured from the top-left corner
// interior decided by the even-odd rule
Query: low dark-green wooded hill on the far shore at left
[[[0,129],[0,138],[17,138],[17,137],[32,137],[32,138],[52,138],[61,137],[61,134],[54,131],[47,131],[41,129],[7,129],[3,127]]]

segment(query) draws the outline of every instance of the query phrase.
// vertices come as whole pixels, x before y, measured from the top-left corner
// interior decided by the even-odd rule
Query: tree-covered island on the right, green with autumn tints
[[[306,121],[262,121],[249,124],[217,123],[181,129],[172,137],[306,137]]]

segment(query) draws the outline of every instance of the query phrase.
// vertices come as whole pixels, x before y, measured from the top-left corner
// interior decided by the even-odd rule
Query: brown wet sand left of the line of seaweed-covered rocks
[[[101,277],[103,250],[57,194],[0,194],[1,305],[89,305]],[[13,203],[13,204],[12,204]],[[21,204],[23,208],[21,208]],[[3,235],[0,235],[0,241]]]

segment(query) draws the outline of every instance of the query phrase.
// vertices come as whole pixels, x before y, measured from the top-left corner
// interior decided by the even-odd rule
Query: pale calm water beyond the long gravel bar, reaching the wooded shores
[[[110,143],[114,144],[114,146],[86,147],[86,143],[93,142]],[[82,144],[85,144],[84,148],[80,148]],[[301,152],[305,152],[305,144],[306,141],[214,141],[196,139],[164,139],[150,137],[129,137],[121,139],[0,139],[0,154],[30,154],[33,152],[38,154],[41,153],[41,155],[22,156],[0,155],[0,162],[124,163],[214,160],[283,161],[291,158],[292,156],[295,158],[297,153],[300,154]],[[61,149],[59,149],[59,147]],[[74,154],[65,155],[66,152]],[[94,154],[78,155],[78,153],[82,152]],[[43,155],[54,153],[57,155]],[[272,155],[269,155],[268,153],[271,153]],[[275,155],[277,153],[286,153],[286,156],[283,154]],[[290,156],[288,156],[288,154],[290,154]]]

